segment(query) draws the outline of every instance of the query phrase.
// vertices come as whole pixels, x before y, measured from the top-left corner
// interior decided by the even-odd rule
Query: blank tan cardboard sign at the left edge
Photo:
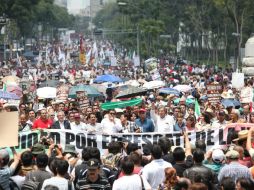
[[[18,112],[0,113],[0,148],[18,145]]]

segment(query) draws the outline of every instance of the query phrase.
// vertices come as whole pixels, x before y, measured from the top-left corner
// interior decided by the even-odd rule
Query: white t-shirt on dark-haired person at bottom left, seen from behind
[[[61,190],[68,190],[68,180],[61,177],[52,177],[50,179],[46,179],[42,184],[41,190],[44,190],[47,185],[56,186]],[[73,183],[72,183],[72,190],[74,190]]]

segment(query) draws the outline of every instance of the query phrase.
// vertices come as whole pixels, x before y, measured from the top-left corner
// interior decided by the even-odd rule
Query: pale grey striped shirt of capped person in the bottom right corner
[[[231,177],[235,182],[238,178],[245,178],[253,181],[250,170],[238,162],[231,162],[221,168],[218,175],[219,182],[221,182],[224,177]]]

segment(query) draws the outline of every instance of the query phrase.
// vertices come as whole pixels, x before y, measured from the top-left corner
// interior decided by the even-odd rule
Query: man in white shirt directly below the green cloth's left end
[[[101,121],[101,128],[103,134],[112,134],[122,132],[123,127],[120,119],[116,118],[116,111],[109,110],[108,114],[105,115]]]

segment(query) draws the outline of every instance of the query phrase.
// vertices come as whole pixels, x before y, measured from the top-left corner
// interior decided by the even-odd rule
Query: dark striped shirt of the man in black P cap
[[[108,180],[104,177],[99,176],[97,181],[91,182],[88,177],[79,179],[76,184],[77,190],[89,189],[89,190],[110,190],[111,186]]]

